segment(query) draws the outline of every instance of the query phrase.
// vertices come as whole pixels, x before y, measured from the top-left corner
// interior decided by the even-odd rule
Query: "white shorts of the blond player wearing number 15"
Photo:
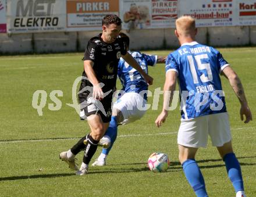
[[[184,120],[180,123],[177,142],[188,147],[204,147],[208,134],[213,146],[222,146],[231,140],[229,114],[217,113]]]

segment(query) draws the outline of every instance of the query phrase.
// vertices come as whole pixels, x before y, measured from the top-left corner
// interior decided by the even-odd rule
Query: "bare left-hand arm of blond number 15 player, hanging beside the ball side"
[[[172,103],[173,93],[175,91],[177,81],[177,73],[175,71],[168,71],[165,77],[165,85],[163,86],[163,109],[162,112],[155,120],[157,127],[161,127],[162,123],[165,122],[168,116],[168,108],[170,103]]]

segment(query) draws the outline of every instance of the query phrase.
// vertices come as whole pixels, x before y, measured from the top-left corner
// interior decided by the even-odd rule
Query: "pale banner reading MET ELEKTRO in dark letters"
[[[8,1],[8,32],[65,31],[65,10],[62,0]]]

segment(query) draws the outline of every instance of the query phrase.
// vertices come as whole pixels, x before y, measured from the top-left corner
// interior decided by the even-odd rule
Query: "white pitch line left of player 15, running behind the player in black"
[[[130,135],[119,135],[118,138],[127,138],[127,137],[144,137],[152,135],[172,135],[177,132],[160,132],[158,134],[130,134]],[[55,139],[20,139],[20,140],[10,140],[10,141],[0,141],[0,144],[12,144],[20,142],[47,142],[47,141],[63,141],[70,139],[80,139],[80,138],[55,138]]]

